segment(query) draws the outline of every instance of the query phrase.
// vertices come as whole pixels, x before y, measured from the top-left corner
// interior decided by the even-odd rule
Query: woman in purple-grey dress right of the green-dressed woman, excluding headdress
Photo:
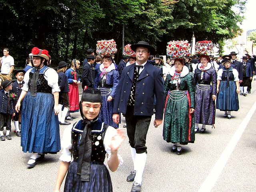
[[[201,55],[199,60],[193,79],[196,88],[195,133],[199,132],[198,124],[202,124],[200,133],[204,133],[206,125],[213,126],[215,122],[217,73],[208,55]]]

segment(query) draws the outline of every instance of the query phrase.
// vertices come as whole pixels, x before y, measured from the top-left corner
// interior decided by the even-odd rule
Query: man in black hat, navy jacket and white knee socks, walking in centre
[[[162,124],[164,112],[164,86],[161,70],[147,60],[155,51],[147,42],[133,44],[136,63],[123,69],[118,83],[113,109],[113,120],[119,123],[119,113],[125,114],[134,170],[127,177],[133,181],[132,192],[141,191],[142,174],[146,164],[146,135],[153,115],[154,94],[156,114],[154,126]]]

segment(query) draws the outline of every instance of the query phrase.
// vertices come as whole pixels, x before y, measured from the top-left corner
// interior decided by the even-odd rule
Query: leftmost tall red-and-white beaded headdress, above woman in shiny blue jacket
[[[111,40],[100,40],[96,44],[96,53],[102,55],[115,54],[117,52],[116,42]]]

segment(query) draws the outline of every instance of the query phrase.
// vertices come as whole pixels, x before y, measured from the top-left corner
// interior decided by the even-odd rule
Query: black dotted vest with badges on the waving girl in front
[[[104,163],[106,151],[103,145],[104,136],[108,125],[102,123],[100,120],[96,120],[92,123],[92,154],[91,162]],[[84,125],[82,120],[76,122],[72,128],[72,155],[74,160],[79,159],[79,145],[80,139],[82,137],[82,132],[84,130]]]

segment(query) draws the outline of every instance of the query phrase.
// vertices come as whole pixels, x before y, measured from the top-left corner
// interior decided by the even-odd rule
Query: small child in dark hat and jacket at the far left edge
[[[3,89],[0,90],[0,140],[4,141],[4,123],[6,122],[6,139],[11,140],[11,120],[14,113],[13,100],[15,99],[12,90],[12,82],[4,80],[2,83]]]

